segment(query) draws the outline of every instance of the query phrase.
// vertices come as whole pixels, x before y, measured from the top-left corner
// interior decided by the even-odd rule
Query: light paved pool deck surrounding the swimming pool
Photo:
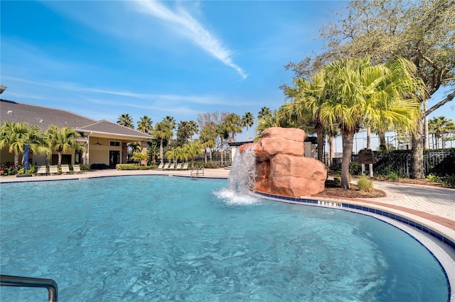
[[[228,178],[230,169],[204,169],[205,178]],[[190,177],[191,171],[144,170],[123,171],[116,169],[94,170],[83,174],[60,174],[33,177],[0,177],[0,183],[18,181],[50,181],[64,179],[87,179],[124,175],[169,175]],[[354,180],[355,181],[355,180]],[[414,220],[432,230],[445,235],[455,242],[455,189],[436,186],[402,184],[389,181],[373,181],[375,189],[385,191],[380,198],[343,198],[337,196],[306,196],[328,201],[346,201],[361,206],[369,206],[382,211]]]

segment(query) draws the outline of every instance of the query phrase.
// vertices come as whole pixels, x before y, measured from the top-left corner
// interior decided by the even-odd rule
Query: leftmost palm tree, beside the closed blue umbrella
[[[14,164],[19,164],[19,155],[28,144],[33,153],[50,154],[44,145],[43,133],[37,125],[28,127],[27,123],[3,121],[0,126],[0,149],[8,147],[8,152],[14,152]]]

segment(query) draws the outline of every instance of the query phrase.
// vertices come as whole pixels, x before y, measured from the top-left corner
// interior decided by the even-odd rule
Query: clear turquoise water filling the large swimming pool
[[[60,301],[447,301],[439,262],[397,228],[227,184],[2,184],[1,274],[54,279]],[[46,299],[1,287],[1,301]]]

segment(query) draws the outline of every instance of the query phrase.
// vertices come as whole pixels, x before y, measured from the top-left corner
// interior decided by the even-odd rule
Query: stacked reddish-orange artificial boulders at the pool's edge
[[[276,127],[262,131],[258,142],[240,146],[240,152],[255,150],[257,191],[299,198],[324,190],[326,166],[304,157],[305,138],[304,130]]]

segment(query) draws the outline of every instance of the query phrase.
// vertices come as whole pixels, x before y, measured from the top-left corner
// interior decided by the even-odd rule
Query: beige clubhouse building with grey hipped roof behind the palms
[[[141,142],[143,148],[146,141],[153,137],[132,128],[106,120],[96,121],[92,118],[56,108],[47,108],[31,104],[18,103],[0,99],[0,121],[26,122],[28,125],[38,125],[44,132],[50,125],[58,128],[69,126],[80,133],[78,139],[84,145],[85,152],[75,150],[63,154],[62,164],[105,164],[114,167],[115,164],[127,162],[127,144]],[[14,155],[7,148],[0,151],[1,163],[13,161]],[[44,155],[32,155],[32,164],[57,164],[57,153],[53,151],[50,159]]]

